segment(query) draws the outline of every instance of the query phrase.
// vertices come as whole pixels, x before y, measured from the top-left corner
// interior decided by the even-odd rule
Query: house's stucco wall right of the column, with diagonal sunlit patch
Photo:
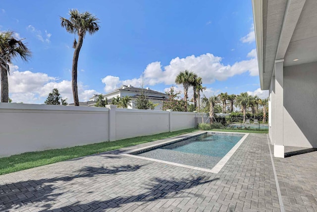
[[[284,67],[284,145],[317,147],[317,63]]]

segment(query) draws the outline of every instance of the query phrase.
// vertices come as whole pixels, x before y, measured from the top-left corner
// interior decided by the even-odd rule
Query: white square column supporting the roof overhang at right
[[[283,141],[283,62],[275,61],[275,117],[273,126],[274,156],[284,157]]]

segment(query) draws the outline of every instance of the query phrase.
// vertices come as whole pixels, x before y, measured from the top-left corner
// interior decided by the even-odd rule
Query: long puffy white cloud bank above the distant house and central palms
[[[195,57],[194,55],[186,58],[174,58],[168,66],[162,67],[160,62],[149,64],[143,72],[144,86],[156,85],[164,83],[166,85],[175,84],[175,78],[180,71],[185,69],[194,71],[197,75],[203,78],[204,84],[211,84],[215,80],[226,80],[237,74],[249,72],[251,76],[256,76],[258,72],[258,61],[255,50],[252,50],[248,57],[249,60],[236,62],[232,66],[223,65],[221,58],[210,53]],[[117,76],[108,75],[102,79],[106,84],[105,91],[109,92],[119,87],[122,84],[131,84],[132,86],[140,87],[142,85],[142,75],[139,78],[128,80],[120,80]]]

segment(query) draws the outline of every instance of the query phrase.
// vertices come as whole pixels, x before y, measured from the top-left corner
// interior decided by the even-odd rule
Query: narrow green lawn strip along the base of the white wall
[[[131,139],[123,139],[119,141],[101,142],[61,149],[26,152],[22,154],[11,155],[9,157],[2,157],[0,158],[0,175],[56,163],[59,161],[69,160],[72,158],[101,153],[109,150],[115,150],[140,143],[166,139],[181,134],[191,133],[197,130],[198,129],[193,128],[170,133],[161,133],[152,136],[142,136]]]

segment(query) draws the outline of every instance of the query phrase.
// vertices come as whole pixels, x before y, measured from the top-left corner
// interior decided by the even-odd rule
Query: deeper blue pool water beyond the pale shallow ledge
[[[204,134],[184,141],[179,141],[161,149],[171,149],[185,153],[223,157],[243,137],[243,135]]]

